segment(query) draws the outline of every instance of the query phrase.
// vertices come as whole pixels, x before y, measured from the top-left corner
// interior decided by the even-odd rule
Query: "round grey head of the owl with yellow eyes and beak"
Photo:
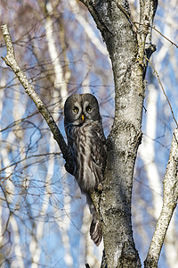
[[[75,94],[64,105],[64,123],[82,125],[86,121],[101,121],[98,101],[92,94]]]

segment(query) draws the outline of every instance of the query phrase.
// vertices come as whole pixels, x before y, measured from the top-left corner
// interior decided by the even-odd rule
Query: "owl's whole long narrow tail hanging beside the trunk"
[[[93,242],[96,246],[99,246],[102,239],[102,230],[101,223],[98,219],[98,214],[96,212],[95,206],[93,205],[93,201],[88,193],[85,193],[87,204],[89,205],[89,209],[91,214],[93,215],[93,221],[90,226],[90,236],[93,239]]]

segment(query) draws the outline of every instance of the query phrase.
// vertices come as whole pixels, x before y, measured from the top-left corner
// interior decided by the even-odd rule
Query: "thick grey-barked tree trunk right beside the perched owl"
[[[151,32],[157,1],[140,1],[140,26],[134,30],[127,1],[82,0],[101,30],[115,81],[115,118],[107,140],[108,163],[99,211],[106,263],[141,267],[134,245],[131,200],[134,163],[142,139],[144,75],[154,51]],[[93,197],[94,199],[94,197]]]

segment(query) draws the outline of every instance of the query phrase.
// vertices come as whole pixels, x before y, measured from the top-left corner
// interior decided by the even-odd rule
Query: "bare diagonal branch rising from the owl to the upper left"
[[[28,93],[28,96],[33,100],[35,103],[38,111],[42,114],[44,117],[44,120],[48,124],[50,130],[53,133],[53,138],[57,141],[59,147],[61,148],[61,153],[68,163],[70,165],[70,155],[69,155],[69,149],[68,146],[64,140],[64,138],[61,135],[61,131],[59,130],[56,122],[53,120],[53,116],[51,113],[48,111],[40,97],[36,94],[35,89],[33,86],[28,82],[27,77],[21,71],[19,63],[15,59],[15,54],[12,46],[12,38],[9,33],[9,29],[6,24],[1,26],[3,36],[4,36],[4,41],[5,41],[5,46],[7,48],[7,54],[5,57],[2,57],[4,62],[12,68],[12,71],[15,73],[17,78],[20,80],[21,85],[23,88],[25,88],[25,92]]]

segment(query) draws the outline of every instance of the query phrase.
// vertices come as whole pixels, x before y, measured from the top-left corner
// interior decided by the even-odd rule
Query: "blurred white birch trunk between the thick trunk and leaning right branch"
[[[155,139],[157,131],[157,101],[158,90],[153,84],[148,88],[147,96],[147,121],[146,134],[142,138],[141,158],[147,173],[149,187],[152,195],[152,214],[156,220],[160,214],[162,205],[162,185],[160,182],[158,168],[155,160]]]

